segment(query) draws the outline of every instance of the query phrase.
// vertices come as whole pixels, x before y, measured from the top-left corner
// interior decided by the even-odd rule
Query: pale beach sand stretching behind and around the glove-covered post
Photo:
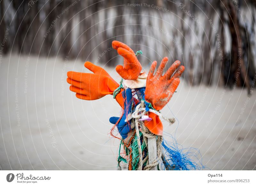
[[[118,116],[120,107],[111,96],[77,99],[66,73],[88,70],[82,61],[64,62],[15,55],[1,59],[2,170],[116,170],[119,140],[110,137],[108,119]],[[106,69],[120,81],[115,68]],[[255,101],[255,93],[248,97],[237,87],[190,87],[181,80],[162,111],[176,118],[173,125],[163,122],[164,138],[170,140],[169,133],[183,148],[199,149],[206,170],[256,170]]]

